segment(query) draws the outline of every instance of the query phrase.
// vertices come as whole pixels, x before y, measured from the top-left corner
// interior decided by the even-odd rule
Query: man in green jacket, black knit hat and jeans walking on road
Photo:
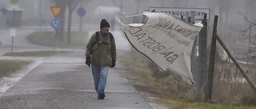
[[[105,98],[105,87],[109,68],[114,68],[116,62],[116,46],[110,31],[110,24],[106,19],[100,23],[100,31],[90,37],[86,45],[86,64],[90,67],[94,77],[94,87],[98,99]]]

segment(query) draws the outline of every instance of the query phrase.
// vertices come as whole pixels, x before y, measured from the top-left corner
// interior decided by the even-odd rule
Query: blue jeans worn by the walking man
[[[98,94],[104,94],[109,68],[109,66],[101,67],[94,64],[91,65],[91,70],[94,76],[94,87]]]

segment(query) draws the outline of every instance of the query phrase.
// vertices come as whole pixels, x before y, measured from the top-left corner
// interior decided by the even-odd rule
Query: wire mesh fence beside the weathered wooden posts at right
[[[204,89],[206,87],[206,77],[208,70],[203,70],[209,66],[210,40],[212,26],[207,30],[206,57],[200,54],[200,48],[203,41],[199,36],[194,43],[194,49],[191,54],[191,72],[194,81],[198,86],[198,95],[205,97]],[[238,61],[242,69],[249,76],[253,83],[256,83],[255,64],[255,27],[250,25],[218,25],[218,36],[228,47],[230,53]],[[200,47],[201,46],[201,47]],[[204,56],[204,57],[202,57]],[[206,61],[205,61],[206,60]],[[255,105],[256,98],[253,89],[250,87],[246,79],[239,72],[234,62],[230,60],[222,46],[216,45],[216,53],[214,58],[214,80],[212,87],[212,101],[218,103],[239,103],[245,105]]]

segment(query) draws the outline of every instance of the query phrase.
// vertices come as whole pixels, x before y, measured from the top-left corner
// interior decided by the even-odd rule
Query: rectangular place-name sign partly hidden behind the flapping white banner
[[[202,20],[203,15],[207,14],[207,19],[210,18],[210,9],[207,8],[174,8],[174,7],[150,7],[149,12],[162,12],[174,15],[181,18],[181,15],[186,16],[186,12],[194,11],[194,19]]]

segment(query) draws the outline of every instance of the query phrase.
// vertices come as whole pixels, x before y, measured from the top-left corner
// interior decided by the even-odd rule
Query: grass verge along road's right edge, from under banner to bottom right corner
[[[171,109],[255,109],[256,107],[234,106],[222,103],[202,103],[193,99],[187,99],[192,95],[186,88],[186,84],[178,83],[174,76],[155,77],[149,60],[138,53],[126,53],[118,56],[118,60],[124,64],[132,77],[128,79],[138,91],[150,93],[160,99],[160,103]]]

